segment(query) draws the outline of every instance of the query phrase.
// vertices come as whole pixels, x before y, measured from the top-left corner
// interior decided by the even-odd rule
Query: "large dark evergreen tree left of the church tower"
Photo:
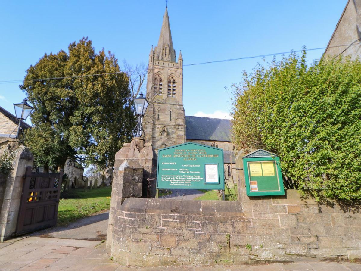
[[[34,127],[25,134],[35,163],[64,167],[70,157],[83,165],[113,165],[135,124],[128,85],[114,54],[95,53],[87,38],[31,65],[20,88],[35,109]]]

